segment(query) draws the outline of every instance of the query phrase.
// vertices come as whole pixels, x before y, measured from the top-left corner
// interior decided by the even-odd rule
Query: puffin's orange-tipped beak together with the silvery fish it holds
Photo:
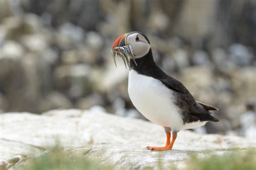
[[[116,56],[119,56],[123,59],[125,68],[126,65],[131,69],[130,67],[130,58],[134,61],[134,63],[137,66],[137,63],[134,58],[134,54],[132,52],[132,47],[128,43],[126,43],[127,34],[124,34],[123,36],[120,36],[114,41],[112,45],[112,56],[114,60],[114,65],[117,67],[116,63]]]

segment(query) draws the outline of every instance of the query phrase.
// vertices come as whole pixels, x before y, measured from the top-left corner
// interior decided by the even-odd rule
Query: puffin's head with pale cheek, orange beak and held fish
[[[142,58],[149,53],[150,48],[150,41],[145,34],[140,32],[125,33],[123,36],[118,37],[112,45],[113,59],[115,61],[115,56],[120,56],[124,60],[125,66],[127,63],[130,67],[129,59],[133,59],[134,63],[136,63],[136,59]]]

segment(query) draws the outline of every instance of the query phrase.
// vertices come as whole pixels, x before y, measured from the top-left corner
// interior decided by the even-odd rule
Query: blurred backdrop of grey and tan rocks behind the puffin
[[[130,31],[219,123],[202,133],[255,137],[255,0],[0,0],[0,112],[102,109],[143,118],[128,69],[111,56]]]

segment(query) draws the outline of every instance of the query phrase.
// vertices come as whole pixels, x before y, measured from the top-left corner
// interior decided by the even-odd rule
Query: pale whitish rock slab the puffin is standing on
[[[27,156],[42,153],[56,144],[71,147],[117,168],[156,167],[176,164],[184,167],[191,153],[223,153],[232,148],[255,147],[255,140],[217,134],[181,131],[173,150],[158,152],[146,146],[165,143],[163,128],[139,119],[122,118],[100,110],[52,110],[43,115],[7,113],[0,115],[0,166],[13,167]],[[207,152],[205,152],[207,151]]]

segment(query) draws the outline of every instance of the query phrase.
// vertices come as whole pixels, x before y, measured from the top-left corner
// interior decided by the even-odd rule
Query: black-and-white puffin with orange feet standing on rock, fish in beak
[[[112,45],[112,55],[115,63],[115,57],[120,56],[130,68],[128,93],[134,107],[165,130],[165,146],[147,146],[148,150],[171,150],[180,130],[219,121],[211,115],[211,110],[217,108],[196,101],[180,81],[156,65],[145,34],[129,32],[120,36]]]

